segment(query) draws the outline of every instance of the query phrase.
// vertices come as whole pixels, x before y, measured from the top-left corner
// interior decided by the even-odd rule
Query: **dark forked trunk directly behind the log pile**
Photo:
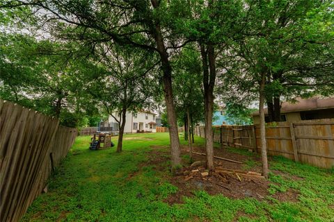
[[[216,80],[216,67],[214,48],[211,45],[200,44],[203,68],[203,86],[205,103],[205,150],[207,157],[207,169],[214,171],[214,138],[212,132],[212,113],[214,107],[214,81]]]

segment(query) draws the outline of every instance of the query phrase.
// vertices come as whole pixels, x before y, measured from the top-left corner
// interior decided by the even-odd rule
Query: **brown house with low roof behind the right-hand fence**
[[[332,119],[334,118],[334,98],[320,99],[296,99],[297,103],[284,102],[280,113],[282,121],[296,122],[310,119]],[[268,121],[268,109],[264,109],[266,122]],[[253,113],[255,124],[260,123],[259,112]]]

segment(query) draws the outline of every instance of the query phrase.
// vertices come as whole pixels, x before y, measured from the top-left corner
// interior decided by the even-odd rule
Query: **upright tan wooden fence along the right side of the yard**
[[[204,127],[196,126],[195,134],[205,137]],[[269,155],[283,155],[316,167],[334,167],[334,121],[278,123],[266,127],[266,139]],[[260,126],[214,127],[214,142],[260,153]]]

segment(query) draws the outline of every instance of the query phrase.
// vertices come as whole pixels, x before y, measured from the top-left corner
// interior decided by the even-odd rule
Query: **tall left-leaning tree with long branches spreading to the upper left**
[[[91,49],[104,42],[116,42],[159,55],[170,128],[171,164],[173,169],[179,167],[180,141],[168,51],[182,44],[168,35],[169,1],[7,1],[0,7],[27,5],[43,11],[39,15],[41,23],[47,24],[47,31],[58,39],[79,40]]]

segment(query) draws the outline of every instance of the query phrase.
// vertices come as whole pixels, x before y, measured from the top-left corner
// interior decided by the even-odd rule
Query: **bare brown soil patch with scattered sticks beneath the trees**
[[[166,162],[169,160],[169,152],[164,150],[165,146],[152,146],[152,151],[149,151],[149,160],[145,162],[145,165],[154,166],[156,171],[166,171],[168,170],[168,164]],[[205,153],[203,147],[193,147],[194,152]],[[188,146],[182,146],[182,155],[188,155]],[[224,157],[230,160],[237,160],[243,162],[243,164],[228,162],[225,160],[214,159],[215,166],[219,169],[230,169],[235,171],[243,171],[247,173],[248,171],[261,173],[261,167],[247,167],[245,162],[247,160],[254,160],[255,162],[260,162],[259,157],[256,156],[246,156],[239,153],[231,153],[225,148],[215,148],[214,155],[218,157]],[[264,178],[248,177],[237,175],[237,173],[212,173],[209,176],[203,176],[207,172],[205,170],[205,155],[193,154],[193,162],[201,161],[202,163],[196,167],[191,167],[189,162],[183,162],[183,173],[177,176],[170,176],[168,178],[169,182],[176,187],[178,191],[176,194],[168,196],[166,203],[173,205],[175,203],[183,203],[184,197],[193,196],[194,191],[205,190],[208,194],[216,195],[222,194],[228,198],[256,198],[257,200],[263,200],[268,196],[268,186],[269,181]],[[247,170],[245,170],[247,167]],[[239,176],[239,177],[238,177]],[[301,179],[301,178],[299,178]],[[281,201],[297,201],[298,192],[293,189],[285,193],[276,193],[273,195]]]

